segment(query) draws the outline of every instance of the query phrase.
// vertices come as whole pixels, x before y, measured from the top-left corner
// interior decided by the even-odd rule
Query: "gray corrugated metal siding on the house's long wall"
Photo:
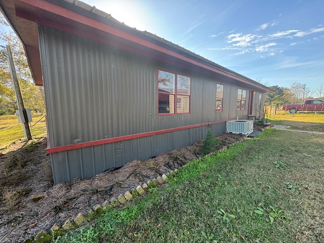
[[[248,109],[236,110],[238,87],[222,80],[44,26],[39,26],[39,45],[50,147],[209,123],[248,113]],[[191,77],[190,114],[157,114],[157,69]],[[215,112],[216,83],[224,85],[222,112]],[[225,132],[225,124],[212,128],[215,135]],[[92,177],[134,159],[191,145],[204,139],[207,130],[200,127],[52,153],[54,182]]]

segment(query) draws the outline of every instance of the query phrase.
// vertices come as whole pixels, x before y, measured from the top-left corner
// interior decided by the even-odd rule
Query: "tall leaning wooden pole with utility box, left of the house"
[[[11,47],[9,45],[7,45],[7,52],[8,52],[10,74],[11,74],[12,84],[13,84],[15,95],[16,95],[18,109],[21,109],[22,112],[24,113],[25,122],[22,124],[22,128],[24,130],[25,140],[31,140],[31,133],[30,133],[29,125],[28,125],[27,112],[26,112],[26,109],[24,106],[24,101],[21,96],[17,72],[16,72],[16,68],[15,68],[15,63],[14,63],[14,59],[12,57]]]

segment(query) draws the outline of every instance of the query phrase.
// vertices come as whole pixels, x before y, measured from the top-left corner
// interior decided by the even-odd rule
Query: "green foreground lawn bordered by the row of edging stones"
[[[321,135],[266,130],[56,242],[323,242],[323,144]]]

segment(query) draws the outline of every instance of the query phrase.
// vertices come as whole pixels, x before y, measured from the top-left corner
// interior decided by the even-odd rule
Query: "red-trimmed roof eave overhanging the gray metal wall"
[[[159,54],[164,57],[170,56],[173,59],[180,60],[182,63],[195,65],[199,68],[215,72],[218,75],[235,79],[240,83],[248,84],[252,88],[254,87],[263,92],[273,92],[268,87],[248,77],[222,67],[177,45],[171,45],[163,38],[120,23],[109,14],[95,9],[95,7],[91,7],[80,1],[77,2],[77,5],[73,4],[73,2],[73,0],[0,0],[2,12],[24,45],[36,85],[43,84],[37,33],[37,24],[41,23],[106,44],[116,45],[120,48],[129,49],[129,45],[126,43],[128,42],[134,47],[141,47],[141,54],[153,58],[158,57]],[[31,28],[31,31],[26,32],[26,27]],[[86,32],[87,30],[88,32]],[[30,32],[33,33],[33,36],[30,36]],[[124,45],[123,42],[120,43],[117,41],[107,43],[107,38],[103,39],[96,36],[96,34],[99,35],[98,33],[105,33],[122,39]],[[131,51],[135,51],[135,48]],[[155,53],[154,55],[151,54],[152,51]]]

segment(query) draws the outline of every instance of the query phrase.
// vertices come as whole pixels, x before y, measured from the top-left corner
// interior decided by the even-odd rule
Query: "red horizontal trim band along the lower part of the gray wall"
[[[242,117],[242,118],[246,118],[246,117]],[[97,146],[97,145],[102,145],[102,144],[107,144],[107,143],[120,142],[120,141],[125,141],[125,140],[136,139],[136,138],[144,138],[144,137],[154,136],[154,135],[158,135],[158,134],[171,133],[171,132],[177,132],[177,131],[182,131],[182,130],[186,130],[186,129],[221,124],[221,123],[225,123],[226,121],[230,121],[230,120],[235,120],[235,119],[213,121],[212,123],[196,124],[196,125],[190,125],[190,126],[179,127],[179,128],[171,128],[171,129],[165,129],[165,130],[158,130],[158,131],[147,132],[147,133],[138,133],[138,134],[133,134],[133,135],[127,135],[127,136],[121,136],[121,137],[115,137],[115,138],[107,138],[107,139],[101,139],[101,140],[85,142],[85,143],[69,144],[69,145],[64,145],[64,146],[47,148],[47,153],[58,153],[58,152],[63,152],[63,151],[68,151],[68,150],[73,150],[73,149],[78,149],[78,148],[86,148],[86,147]]]

